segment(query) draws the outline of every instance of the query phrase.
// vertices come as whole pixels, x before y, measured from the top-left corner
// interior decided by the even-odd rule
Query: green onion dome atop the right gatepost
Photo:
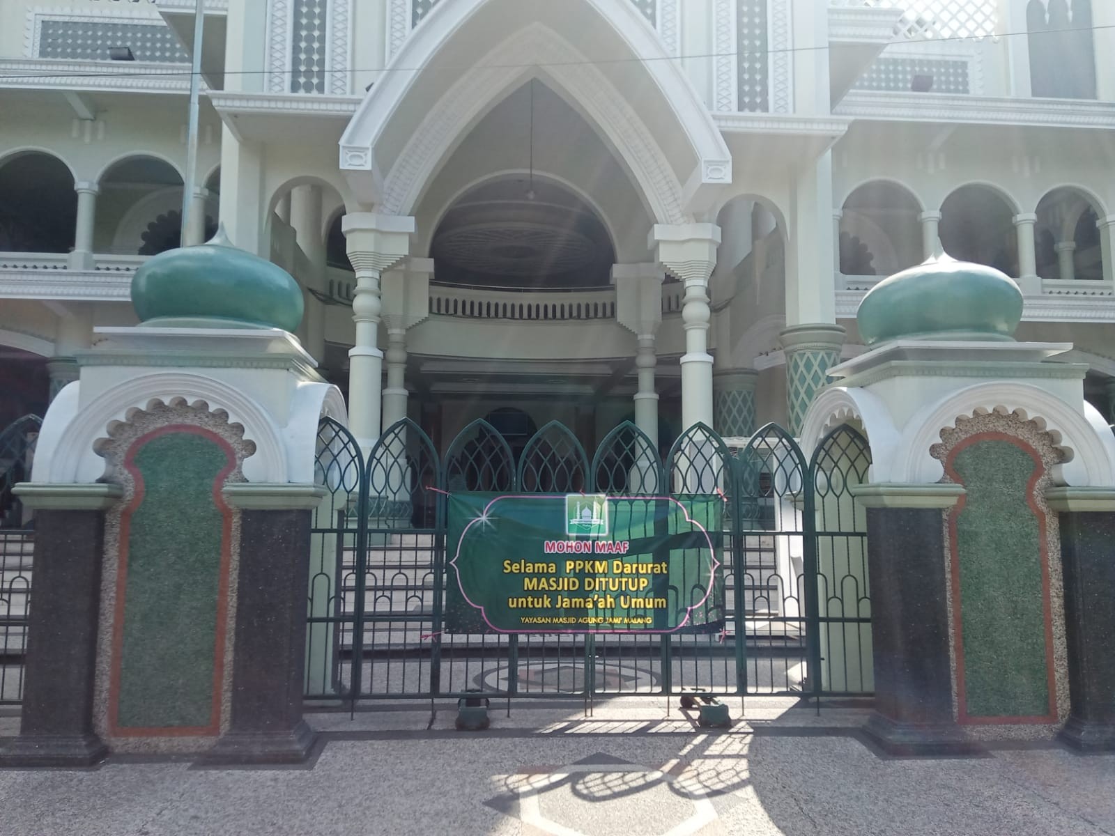
[[[1022,292],[995,268],[939,253],[884,279],[860,302],[867,346],[886,340],[1014,340]]]

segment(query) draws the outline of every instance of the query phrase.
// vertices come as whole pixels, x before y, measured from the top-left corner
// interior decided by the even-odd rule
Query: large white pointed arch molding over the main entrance
[[[406,41],[390,66],[421,67],[478,9],[495,0],[439,3]],[[667,59],[657,33],[630,0],[582,0],[612,22],[633,55]],[[537,67],[536,65],[549,65]],[[390,68],[389,66],[389,68]],[[406,113],[406,99],[419,74],[387,72],[352,117],[341,137],[340,167],[362,200],[387,214],[409,214],[442,162],[484,114],[511,90],[537,77],[598,127],[629,168],[658,223],[683,223],[688,204],[705,184],[731,182],[731,155],[688,78],[676,61],[649,60],[642,66],[669,104],[671,135],[688,139],[685,182],[652,132],[627,97],[568,40],[541,23],[513,32],[473,68],[462,74],[429,108],[414,136],[395,161],[376,156],[377,143],[396,114]],[[386,169],[385,169],[386,168]]]

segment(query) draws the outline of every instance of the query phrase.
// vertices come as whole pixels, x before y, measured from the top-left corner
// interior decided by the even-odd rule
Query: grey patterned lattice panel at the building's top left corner
[[[43,20],[38,57],[107,61],[110,47],[132,47],[137,61],[190,60],[166,25],[114,22],[112,19]]]

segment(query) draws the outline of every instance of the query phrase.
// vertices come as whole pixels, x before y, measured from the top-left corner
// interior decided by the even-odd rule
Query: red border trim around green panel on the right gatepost
[[[1045,464],[1041,461],[1041,456],[1038,451],[1017,436],[1010,436],[1006,432],[980,432],[979,435],[969,436],[953,447],[949,453],[948,459],[944,461],[944,473],[958,485],[962,485],[963,482],[953,467],[957,454],[979,441],[1007,441],[1034,459],[1034,475],[1026,485],[1026,504],[1034,512],[1034,516],[1038,521],[1038,548],[1041,563],[1041,607],[1045,616],[1046,681],[1049,691],[1049,713],[1028,717],[973,717],[968,713],[968,694],[964,688],[964,642],[960,612],[960,553],[957,544],[957,519],[968,504],[968,497],[961,496],[960,502],[957,503],[952,513],[949,514],[949,562],[952,566],[952,633],[957,654],[957,720],[961,723],[980,726],[1055,723],[1057,722],[1057,679],[1053,658],[1053,602],[1049,597],[1049,539],[1046,515],[1038,507],[1036,498],[1037,484],[1046,473]]]

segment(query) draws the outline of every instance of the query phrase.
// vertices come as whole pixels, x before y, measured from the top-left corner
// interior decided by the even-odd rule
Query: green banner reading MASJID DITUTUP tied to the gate
[[[720,496],[454,492],[448,507],[449,633],[723,628]]]

